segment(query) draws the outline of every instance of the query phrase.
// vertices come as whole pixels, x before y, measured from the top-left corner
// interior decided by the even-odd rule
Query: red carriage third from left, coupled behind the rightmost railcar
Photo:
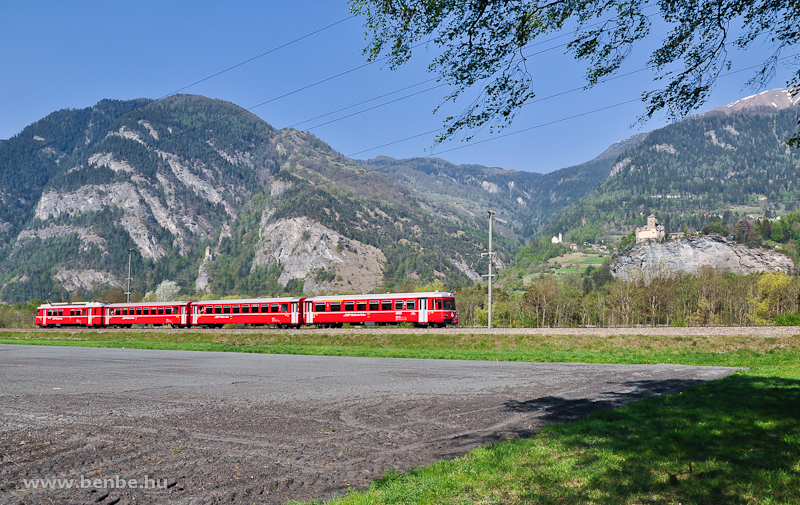
[[[275,324],[281,328],[299,327],[303,298],[248,298],[203,300],[192,305],[191,324],[222,327],[223,324]]]

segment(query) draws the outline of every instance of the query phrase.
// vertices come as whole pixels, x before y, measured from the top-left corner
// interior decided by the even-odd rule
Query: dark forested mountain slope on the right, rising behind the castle
[[[650,132],[594,191],[554,216],[547,233],[595,241],[627,235],[651,213],[675,232],[791,212],[800,206],[800,151],[785,140],[798,110],[719,108]]]

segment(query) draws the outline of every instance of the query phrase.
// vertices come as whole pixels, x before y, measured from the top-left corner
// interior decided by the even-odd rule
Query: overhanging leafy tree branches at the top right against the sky
[[[460,116],[445,119],[437,141],[462,129],[511,124],[534,96],[526,55],[538,37],[574,27],[567,52],[587,63],[587,86],[619,70],[633,46],[650,35],[657,18],[670,31],[648,65],[663,88],[646,91],[640,119],[666,110],[680,118],[701,106],[717,77],[731,67],[729,49],[767,41],[774,50],[751,75],[760,87],[772,77],[778,56],[800,43],[800,4],[778,0],[663,0],[657,15],[645,0],[350,0],[365,18],[370,61],[386,57],[397,68],[419,45],[434,45],[431,72],[452,86],[444,101],[476,87],[479,96]],[[756,42],[758,40],[758,42]],[[796,64],[796,62],[795,62]],[[800,92],[800,70],[788,83]],[[789,140],[800,146],[800,134]]]

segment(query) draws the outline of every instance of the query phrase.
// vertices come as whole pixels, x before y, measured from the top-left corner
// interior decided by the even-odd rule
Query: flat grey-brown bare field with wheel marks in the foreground
[[[733,370],[0,345],[0,503],[328,499]]]

